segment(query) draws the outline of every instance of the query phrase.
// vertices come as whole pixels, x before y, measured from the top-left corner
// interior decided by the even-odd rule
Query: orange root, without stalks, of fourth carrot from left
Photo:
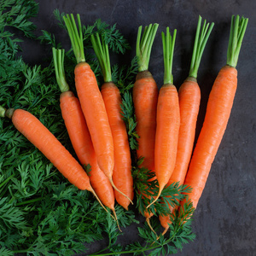
[[[117,86],[111,82],[102,84],[102,98],[108,113],[108,121],[113,136],[113,183],[133,200],[133,179],[131,176],[131,152],[125,122],[121,114],[121,96]],[[128,209],[130,201],[114,190],[116,201]]]

